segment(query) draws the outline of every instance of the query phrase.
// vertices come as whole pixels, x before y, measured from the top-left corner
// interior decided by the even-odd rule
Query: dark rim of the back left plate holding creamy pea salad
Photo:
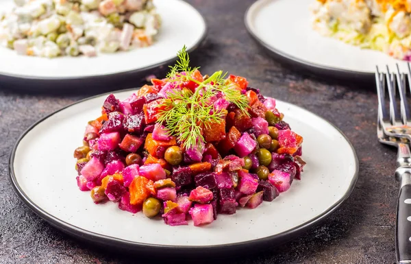
[[[201,45],[201,43],[203,43],[203,41],[206,39],[206,37],[208,36],[209,27],[208,27],[206,18],[203,16],[203,14],[201,14],[201,12],[199,12],[199,10],[197,10],[197,8],[195,8],[193,5],[191,5],[190,3],[186,2],[186,1],[183,1],[183,0],[175,0],[175,1],[179,1],[181,3],[189,5],[193,10],[195,10],[195,12],[197,12],[199,14],[199,16],[201,17],[201,20],[204,23],[203,34],[195,42],[195,44],[192,45],[192,47],[190,47],[190,49],[187,49],[187,52],[191,53],[192,51],[195,51],[199,47],[199,45]],[[125,52],[128,52],[128,51],[125,51]],[[118,73],[97,74],[97,75],[88,75],[88,76],[45,77],[45,76],[29,76],[29,75],[23,75],[23,74],[0,72],[0,77],[7,77],[7,78],[12,78],[14,80],[21,80],[21,81],[25,81],[25,80],[34,80],[34,81],[71,81],[71,80],[96,79],[96,78],[101,78],[101,77],[112,78],[112,77],[121,77],[121,76],[124,76],[124,75],[133,75],[133,74],[136,74],[136,73],[149,71],[149,70],[158,68],[162,65],[174,62],[175,60],[177,60],[177,56],[174,56],[173,58],[171,58],[169,60],[163,60],[162,62],[158,62],[156,64],[149,65],[147,67],[142,67],[140,69],[132,69],[132,70],[129,70],[129,71],[120,71]]]

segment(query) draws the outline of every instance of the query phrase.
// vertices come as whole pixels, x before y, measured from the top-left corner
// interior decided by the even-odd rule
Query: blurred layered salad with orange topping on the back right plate
[[[314,29],[324,36],[411,60],[409,0],[316,0]]]

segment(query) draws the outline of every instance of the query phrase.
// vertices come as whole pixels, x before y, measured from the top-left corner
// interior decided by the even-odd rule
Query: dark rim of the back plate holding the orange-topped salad
[[[253,38],[253,40],[256,41],[260,46],[262,46],[266,51],[271,53],[271,55],[278,56],[284,60],[284,62],[288,64],[292,64],[293,66],[301,67],[303,69],[306,69],[312,73],[320,74],[320,75],[328,75],[331,77],[337,77],[341,79],[347,79],[349,77],[355,77],[356,80],[364,80],[364,79],[371,79],[374,78],[374,74],[371,71],[352,71],[348,69],[338,69],[335,67],[328,67],[325,65],[321,64],[316,64],[313,62],[309,62],[307,60],[302,60],[300,58],[297,58],[295,56],[292,56],[288,53],[285,53],[284,51],[281,51],[279,49],[276,49],[275,47],[272,47],[268,43],[264,42],[261,38],[257,36],[255,32],[253,32],[253,29],[251,29],[251,25],[249,22],[251,22],[251,10],[253,8],[256,8],[258,5],[260,5],[264,1],[284,1],[284,0],[257,0],[253,4],[251,4],[247,10],[245,11],[244,15],[244,24],[247,29],[247,32],[249,35]],[[249,21],[250,20],[250,21]]]

